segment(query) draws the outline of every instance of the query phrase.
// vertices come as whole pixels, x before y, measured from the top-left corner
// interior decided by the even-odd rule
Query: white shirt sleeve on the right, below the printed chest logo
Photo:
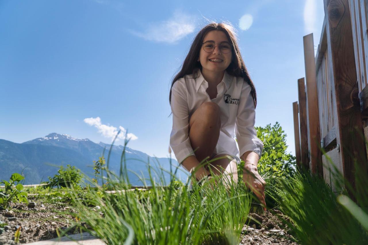
[[[238,141],[240,156],[243,156],[248,151],[256,152],[259,157],[262,155],[263,143],[257,138],[254,124],[255,108],[251,95],[251,86],[244,82],[235,120],[235,135]]]

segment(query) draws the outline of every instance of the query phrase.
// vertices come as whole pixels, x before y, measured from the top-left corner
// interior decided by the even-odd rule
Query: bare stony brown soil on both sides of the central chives
[[[67,234],[79,232],[79,229],[72,226],[72,221],[75,220],[75,210],[72,207],[60,202],[42,202],[35,197],[28,199],[29,202],[35,202],[36,206],[10,203],[8,210],[12,210],[12,214],[7,214],[8,210],[0,211],[0,221],[8,224],[0,234],[0,244],[17,244],[14,241],[14,234],[19,227],[21,227],[19,243],[22,244],[56,238],[57,228],[59,233],[67,228],[70,228]],[[280,215],[282,214],[278,210],[273,210],[272,213],[268,211],[263,214],[251,213],[250,216],[254,220],[250,219],[248,226],[244,225],[240,244],[297,244],[288,234],[287,226],[279,219]]]

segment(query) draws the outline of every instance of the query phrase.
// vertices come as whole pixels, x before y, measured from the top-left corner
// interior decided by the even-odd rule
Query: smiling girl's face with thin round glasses
[[[211,43],[206,43],[208,41],[212,41]],[[215,49],[208,53],[204,50],[204,46],[213,45],[215,43]],[[223,43],[220,48],[220,43],[222,42],[229,42]],[[232,49],[233,47],[230,45],[230,40],[227,38],[226,34],[223,31],[210,31],[208,32],[204,39],[203,44],[201,46],[201,51],[199,51],[199,58],[198,61],[201,62],[202,65],[202,73],[207,72],[223,72],[229,67],[231,63],[231,56],[232,56]],[[227,46],[226,46],[227,45]],[[211,47],[211,46],[208,46]],[[230,48],[229,53],[227,52],[227,47]]]

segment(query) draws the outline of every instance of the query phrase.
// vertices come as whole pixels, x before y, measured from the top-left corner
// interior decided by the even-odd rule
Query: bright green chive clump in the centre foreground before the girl
[[[125,145],[127,143],[125,140]],[[106,184],[99,186],[88,176],[85,178],[90,184],[86,193],[71,192],[77,220],[85,222],[82,228],[91,227],[86,231],[107,244],[239,244],[254,198],[244,183],[232,179],[224,183],[222,177],[215,176],[198,185],[191,173],[185,184],[177,187],[174,183],[177,183],[178,167],[174,173],[163,168],[159,168],[161,173],[156,173],[148,164],[148,180],[152,188],[143,193],[128,191],[124,156],[123,150],[119,175],[108,168],[105,170],[106,183],[116,192],[106,192]],[[171,176],[167,186],[164,185],[163,172]],[[158,176],[159,180],[153,176]],[[147,186],[147,179],[143,176],[140,179]],[[91,185],[94,188],[90,188]],[[101,209],[96,212],[88,207],[81,195],[88,195],[93,205]]]

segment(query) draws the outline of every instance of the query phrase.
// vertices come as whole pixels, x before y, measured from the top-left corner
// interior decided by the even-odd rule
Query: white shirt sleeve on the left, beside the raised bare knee
[[[171,111],[173,113],[173,129],[170,134],[170,147],[173,149],[178,163],[188,156],[194,155],[189,139],[189,110],[187,92],[178,81],[171,88]]]

